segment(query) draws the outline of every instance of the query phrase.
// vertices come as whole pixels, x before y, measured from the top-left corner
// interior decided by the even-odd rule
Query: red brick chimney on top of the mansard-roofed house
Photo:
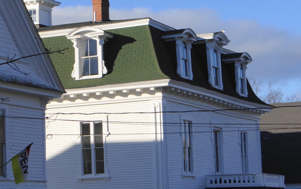
[[[109,20],[109,0],[92,0],[93,5],[93,21]],[[94,13],[96,12],[96,13]],[[96,15],[96,20],[95,20]]]

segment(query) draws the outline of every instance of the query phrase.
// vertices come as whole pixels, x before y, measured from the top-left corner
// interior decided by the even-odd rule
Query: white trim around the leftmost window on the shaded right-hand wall
[[[184,151],[183,151],[183,139],[185,138],[185,126],[184,126],[184,121],[187,121],[187,122],[191,122],[191,128],[190,128],[190,132],[191,132],[191,157],[190,157],[190,168],[191,168],[191,171],[188,172],[188,171],[185,171],[184,170],[184,163],[187,163],[186,160],[184,162],[184,159],[182,161],[182,176],[183,177],[195,177],[194,175],[194,147],[193,147],[193,138],[194,138],[194,135],[193,135],[193,123],[194,123],[194,120],[192,119],[191,116],[186,116],[186,115],[181,115],[180,116],[180,121],[181,121],[181,136],[182,136],[182,155],[184,154]]]

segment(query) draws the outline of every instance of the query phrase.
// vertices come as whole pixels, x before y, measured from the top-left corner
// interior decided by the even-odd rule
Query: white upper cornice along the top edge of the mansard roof
[[[109,23],[109,24],[100,24],[100,25],[93,25],[95,28],[99,28],[102,30],[110,30],[110,29],[120,29],[120,28],[128,28],[134,26],[145,26],[150,25],[155,28],[158,28],[163,31],[174,30],[174,28],[169,27],[165,24],[157,22],[150,18],[139,19],[139,20],[131,20],[125,22],[117,22],[117,23]],[[81,26],[82,27],[82,26]],[[69,28],[69,29],[58,29],[58,30],[51,30],[51,31],[43,31],[39,32],[41,38],[48,38],[48,37],[55,37],[55,36],[63,36],[67,35],[71,31],[77,29],[79,27]]]

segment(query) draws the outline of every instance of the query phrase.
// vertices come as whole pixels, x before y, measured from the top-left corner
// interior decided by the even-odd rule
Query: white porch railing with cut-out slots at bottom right
[[[279,187],[284,188],[284,176],[266,173],[206,175],[206,188]]]

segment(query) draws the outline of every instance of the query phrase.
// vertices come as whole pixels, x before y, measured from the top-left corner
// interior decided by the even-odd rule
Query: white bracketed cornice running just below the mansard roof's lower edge
[[[185,82],[175,81],[172,79],[160,79],[153,81],[141,81],[133,83],[122,83],[114,85],[102,85],[96,87],[86,87],[86,88],[74,88],[66,89],[67,93],[63,94],[61,98],[54,99],[54,101],[70,100],[74,101],[81,98],[95,98],[107,97],[107,96],[119,96],[126,94],[136,94],[136,93],[147,93],[147,92],[168,92],[170,94],[177,94],[186,96],[187,98],[194,98],[197,100],[202,100],[207,103],[213,103],[216,106],[221,107],[221,109],[245,109],[245,108],[257,108],[260,109],[250,109],[244,110],[250,113],[261,114],[269,112],[271,106],[257,104],[229,95],[219,93],[217,91],[208,90],[206,88],[191,85]]]

